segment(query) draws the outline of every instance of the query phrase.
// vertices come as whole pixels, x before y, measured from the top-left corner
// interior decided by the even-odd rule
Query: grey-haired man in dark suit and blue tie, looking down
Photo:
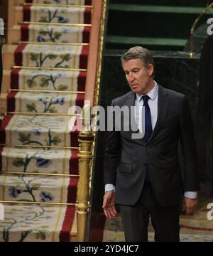
[[[114,99],[111,108],[126,106],[132,113],[134,106],[134,111],[129,114],[130,121],[121,112],[120,129],[116,129],[114,121],[109,131],[104,161],[104,213],[113,218],[115,203],[119,204],[126,241],[148,240],[150,215],[155,241],[179,241],[182,196],[185,211],[191,214],[199,189],[190,106],[185,95],[153,80],[153,57],[146,48],[129,49],[121,62],[131,92]],[[129,131],[124,126],[130,127]],[[138,134],[141,137],[133,136]],[[183,177],[178,162],[179,140]]]

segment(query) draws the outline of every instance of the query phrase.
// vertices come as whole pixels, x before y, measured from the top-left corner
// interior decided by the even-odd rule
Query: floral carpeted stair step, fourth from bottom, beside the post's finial
[[[78,146],[80,129],[75,117],[7,114],[0,130],[1,144]],[[78,129],[78,130],[77,130]]]

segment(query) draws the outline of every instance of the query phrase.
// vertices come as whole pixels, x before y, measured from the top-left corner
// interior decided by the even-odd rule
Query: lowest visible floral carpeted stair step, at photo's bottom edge
[[[1,242],[69,242],[77,234],[75,206],[4,204],[4,216]]]

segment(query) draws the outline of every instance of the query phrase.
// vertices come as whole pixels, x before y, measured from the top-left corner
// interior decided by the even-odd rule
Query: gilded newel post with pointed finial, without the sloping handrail
[[[92,160],[92,143],[94,136],[92,134],[91,124],[91,107],[84,105],[82,110],[82,124],[83,129],[79,135],[80,153],[79,157],[79,171],[80,180],[77,188],[77,238],[79,242],[84,242],[87,229],[87,215],[89,209],[89,171]]]

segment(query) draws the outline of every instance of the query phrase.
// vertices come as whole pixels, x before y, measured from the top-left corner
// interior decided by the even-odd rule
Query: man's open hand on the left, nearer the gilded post
[[[114,218],[116,216],[115,208],[115,193],[114,191],[107,191],[104,194],[103,206],[104,214],[107,218]]]

